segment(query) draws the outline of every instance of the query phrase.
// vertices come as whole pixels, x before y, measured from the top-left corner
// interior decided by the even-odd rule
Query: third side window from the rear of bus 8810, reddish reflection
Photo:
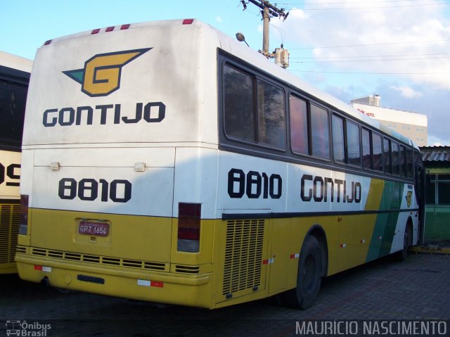
[[[309,154],[307,103],[290,96],[290,146],[294,153]]]

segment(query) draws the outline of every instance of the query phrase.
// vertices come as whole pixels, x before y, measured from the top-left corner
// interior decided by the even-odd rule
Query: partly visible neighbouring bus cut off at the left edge
[[[20,145],[32,61],[0,51],[0,274],[16,273]]]

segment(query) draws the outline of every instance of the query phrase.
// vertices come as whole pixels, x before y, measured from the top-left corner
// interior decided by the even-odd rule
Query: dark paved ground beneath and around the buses
[[[51,324],[46,336],[295,336],[307,319],[450,319],[449,255],[384,258],[328,277],[305,311],[267,300],[201,310],[0,282],[0,337],[7,320]]]

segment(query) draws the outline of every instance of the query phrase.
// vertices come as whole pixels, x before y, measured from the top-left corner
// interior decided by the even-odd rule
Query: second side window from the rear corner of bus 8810
[[[283,91],[258,80],[258,140],[285,148],[285,108]]]

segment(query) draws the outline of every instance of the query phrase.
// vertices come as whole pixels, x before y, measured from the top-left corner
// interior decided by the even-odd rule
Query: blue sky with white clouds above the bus
[[[248,1],[245,1],[248,2]],[[428,145],[450,145],[449,0],[271,1],[289,11],[271,20],[270,48],[290,68],[342,101],[379,94],[381,106],[428,115]],[[14,0],[0,11],[0,50],[25,58],[46,40],[84,30],[198,18],[262,49],[258,8],[239,0]]]

